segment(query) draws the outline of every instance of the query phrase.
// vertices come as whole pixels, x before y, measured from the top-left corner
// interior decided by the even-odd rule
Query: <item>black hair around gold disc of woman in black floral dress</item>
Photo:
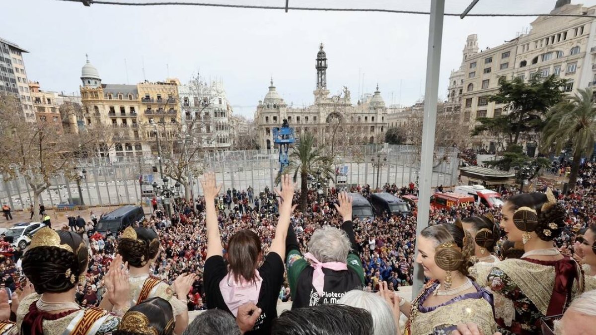
[[[560,203],[553,203],[545,208],[545,210],[542,210],[542,205],[547,203],[547,201],[548,198],[546,194],[532,192],[516,194],[509,198],[507,203],[510,204],[511,209],[513,209],[514,212],[521,207],[530,207],[531,209],[536,210],[538,225],[536,225],[534,231],[541,240],[552,241],[563,232],[566,210]],[[551,223],[554,223],[557,227],[552,228],[550,226]],[[548,233],[545,234],[545,231]]]

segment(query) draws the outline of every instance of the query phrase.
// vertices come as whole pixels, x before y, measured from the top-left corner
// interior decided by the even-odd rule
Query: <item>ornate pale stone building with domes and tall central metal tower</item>
[[[368,95],[356,105],[352,104],[346,86],[342,94],[330,96],[327,66],[327,54],[321,44],[315,62],[314,103],[305,108],[288,107],[271,80],[269,92],[259,101],[254,113],[260,148],[274,147],[272,128],[281,126],[284,119],[295,129],[296,137],[312,132],[315,141],[322,145],[384,142],[387,107],[378,86],[374,95]]]

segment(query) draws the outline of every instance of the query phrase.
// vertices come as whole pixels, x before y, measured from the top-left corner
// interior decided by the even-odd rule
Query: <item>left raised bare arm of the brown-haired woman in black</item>
[[[222,185],[215,182],[215,173],[206,173],[200,179],[205,196],[205,212],[207,225],[207,259],[211,256],[224,256],[222,240],[219,235],[218,216],[215,213],[215,197],[219,194]]]

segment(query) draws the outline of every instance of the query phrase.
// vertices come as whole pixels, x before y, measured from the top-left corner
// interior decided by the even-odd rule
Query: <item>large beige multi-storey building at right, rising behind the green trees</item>
[[[596,13],[596,6],[560,5],[553,14]],[[537,74],[555,75],[568,80],[565,92],[596,83],[596,20],[591,17],[539,17],[529,32],[493,48],[478,49],[478,38],[470,35],[462,52],[459,70],[451,73],[448,104],[460,106],[462,123],[469,129],[478,117],[495,117],[507,113],[504,106],[488,101],[498,92],[501,76],[511,80],[529,80]],[[478,136],[473,147],[494,148],[495,139]],[[535,139],[524,139],[535,141]]]

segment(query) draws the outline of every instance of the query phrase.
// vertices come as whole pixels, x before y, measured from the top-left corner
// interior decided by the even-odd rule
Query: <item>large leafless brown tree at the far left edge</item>
[[[74,160],[88,152],[101,138],[99,132],[66,134],[52,123],[25,122],[13,95],[0,94],[0,172],[4,180],[23,176],[33,191],[33,207],[39,196],[60,173],[70,175]],[[38,213],[34,212],[34,218]]]

